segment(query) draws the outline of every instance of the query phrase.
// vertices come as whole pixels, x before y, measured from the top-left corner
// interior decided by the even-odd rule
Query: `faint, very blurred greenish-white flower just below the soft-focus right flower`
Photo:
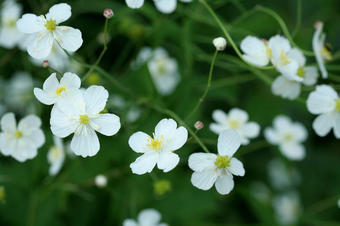
[[[280,159],[272,159],[268,163],[269,181],[276,190],[288,190],[300,183],[301,177],[299,172],[286,166]]]

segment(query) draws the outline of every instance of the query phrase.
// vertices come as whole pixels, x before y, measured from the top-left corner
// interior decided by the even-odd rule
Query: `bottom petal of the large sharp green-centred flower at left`
[[[77,156],[94,156],[100,149],[99,140],[95,131],[87,133],[87,136],[74,134],[71,141],[71,149]]]

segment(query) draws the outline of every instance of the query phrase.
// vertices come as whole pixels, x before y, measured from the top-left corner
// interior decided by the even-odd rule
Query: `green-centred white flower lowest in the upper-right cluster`
[[[298,63],[299,68],[297,68],[296,74],[303,79],[301,81],[302,84],[305,86],[313,86],[317,83],[319,77],[318,69],[314,66],[305,66],[306,57],[301,50],[292,48],[287,57]],[[285,75],[280,75],[272,83],[272,93],[282,98],[294,100],[300,96],[301,83],[289,80]]]

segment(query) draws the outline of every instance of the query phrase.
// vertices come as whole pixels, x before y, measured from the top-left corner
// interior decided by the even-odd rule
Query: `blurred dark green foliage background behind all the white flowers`
[[[55,0],[19,2],[23,4],[24,13],[37,15],[45,14],[53,4],[61,3]],[[141,9],[130,9],[123,0],[65,2],[72,7],[72,16],[63,25],[80,29],[84,40],[75,54],[76,58],[90,64],[96,61],[102,50],[102,44],[97,41],[105,22],[102,13],[105,8],[112,8],[115,16],[108,21],[111,41],[100,66],[124,86],[134,90],[139,97],[172,109],[182,119],[190,113],[207,84],[215,52],[211,41],[223,37],[221,29],[199,1],[188,4],[179,2],[176,11],[170,15],[158,12],[151,0],[146,0]],[[237,45],[247,35],[269,39],[275,34],[282,34],[276,20],[254,9],[257,4],[277,12],[290,32],[295,28],[297,1],[207,2]],[[302,0],[302,23],[294,41],[302,48],[311,50],[313,24],[317,20],[324,22],[326,40],[331,43],[332,52],[335,53],[340,48],[338,0]],[[137,71],[130,69],[130,63],[135,60],[142,46],[162,46],[171,57],[177,59],[182,80],[172,95],[162,97],[157,94],[146,65]],[[67,158],[56,177],[48,176],[49,164],[46,159],[47,151],[53,144],[49,128],[51,106],[38,102],[33,95],[33,88],[30,88],[24,94],[27,98],[25,106],[10,106],[7,109],[14,111],[18,119],[32,111],[40,116],[46,143],[38,150],[35,159],[25,163],[0,156],[0,186],[5,189],[5,202],[0,203],[0,225],[122,225],[126,218],[136,219],[140,210],[155,208],[162,213],[162,222],[172,226],[275,226],[279,223],[272,205],[273,199],[291,191],[299,194],[301,203],[301,211],[293,211],[299,213],[298,220],[292,225],[340,225],[340,209],[336,205],[340,198],[339,141],[333,132],[324,138],[315,135],[311,127],[315,117],[307,111],[305,103],[273,96],[270,86],[256,76],[260,70],[247,66],[236,56],[230,45],[218,54],[209,93],[188,121],[191,129],[194,129],[193,124],[198,120],[205,124],[198,136],[215,153],[218,136],[208,129],[208,124],[213,121],[213,110],[228,112],[232,107],[239,107],[249,113],[251,121],[261,125],[260,136],[253,139],[250,145],[241,147],[236,154],[246,173],[244,177],[234,178],[235,188],[230,194],[222,196],[215,187],[203,191],[191,184],[193,171],[188,167],[188,157],[191,153],[203,152],[193,141],[176,151],[181,160],[172,171],[163,173],[155,168],[152,177],[149,174],[133,174],[129,165],[140,154],[129,147],[129,137],[137,131],[151,135],[155,125],[169,116],[147,105],[135,103],[133,98],[104,77],[92,74],[90,79],[82,83],[82,87],[88,87],[95,81],[109,91],[108,103],[115,95],[125,100],[122,106],[108,106],[110,113],[121,118],[122,127],[112,137],[98,133],[101,148],[97,155]],[[307,64],[315,64],[313,57],[307,57]],[[339,61],[330,62],[327,68],[329,79],[319,79],[318,83],[339,83]],[[47,68],[32,65],[27,52],[0,47],[0,100],[3,103],[8,82],[17,71],[30,73],[34,80],[33,87],[42,87],[52,73]],[[78,69],[77,73],[82,77],[86,71],[86,68]],[[261,72],[271,80],[278,75],[275,70]],[[306,99],[309,91],[303,91],[301,97]],[[140,118],[135,122],[126,120],[131,107],[141,110]],[[302,122],[308,129],[309,137],[304,143],[307,155],[301,162],[285,159],[277,147],[270,146],[263,138],[263,129],[271,126],[272,119],[279,114]],[[64,141],[71,138],[69,136]],[[269,176],[268,164],[274,158],[283,162],[289,171],[289,186],[285,190],[275,188]],[[290,173],[291,170],[294,173]],[[94,185],[97,174],[108,177],[107,187],[98,188]],[[279,174],[279,177],[284,177],[283,174]],[[298,179],[290,177],[292,174],[298,174]],[[158,197],[153,190],[155,178],[169,180],[171,191]]]

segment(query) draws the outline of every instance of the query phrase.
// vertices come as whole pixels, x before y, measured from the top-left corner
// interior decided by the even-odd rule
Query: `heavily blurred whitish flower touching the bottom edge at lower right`
[[[279,195],[273,200],[276,220],[280,225],[295,225],[302,212],[300,196],[296,192]]]

